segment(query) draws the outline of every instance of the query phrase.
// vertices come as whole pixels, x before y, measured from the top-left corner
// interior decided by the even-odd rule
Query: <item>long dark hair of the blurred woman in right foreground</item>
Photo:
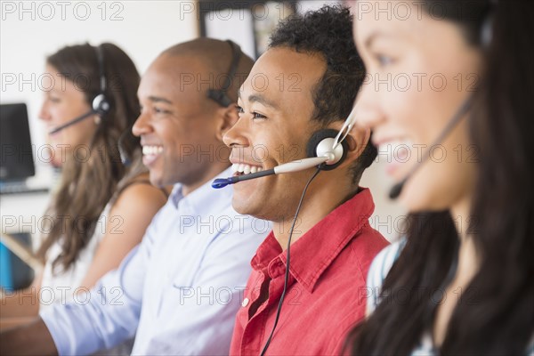
[[[520,355],[534,333],[534,3],[440,3],[472,45],[481,45],[491,16],[492,41],[481,48],[484,73],[469,117],[480,150],[469,226],[480,270],[462,291],[439,352]],[[408,355],[433,327],[440,301],[433,292],[446,287],[457,230],[448,211],[412,214],[409,222],[383,303],[348,339],[352,354]]]

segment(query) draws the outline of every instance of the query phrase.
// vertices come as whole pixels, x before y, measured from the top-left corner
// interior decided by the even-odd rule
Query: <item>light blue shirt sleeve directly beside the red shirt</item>
[[[148,349],[155,353],[180,350],[181,354],[227,355],[251,271],[250,259],[263,238],[264,234],[245,230],[220,233],[213,239],[192,283],[174,283],[173,293],[180,295],[180,305],[173,315],[172,337],[158,336]]]

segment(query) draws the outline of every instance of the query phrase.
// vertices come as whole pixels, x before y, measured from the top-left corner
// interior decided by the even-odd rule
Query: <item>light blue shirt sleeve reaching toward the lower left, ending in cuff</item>
[[[142,243],[126,255],[93,289],[40,313],[60,355],[89,354],[132,337],[137,328],[146,266],[153,244],[153,224]]]

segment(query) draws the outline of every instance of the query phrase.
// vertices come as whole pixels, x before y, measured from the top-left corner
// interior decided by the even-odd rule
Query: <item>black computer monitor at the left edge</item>
[[[26,104],[1,104],[0,182],[25,181],[35,174]]]

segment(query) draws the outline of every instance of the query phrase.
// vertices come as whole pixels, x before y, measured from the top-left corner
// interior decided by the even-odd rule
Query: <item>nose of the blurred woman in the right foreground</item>
[[[361,85],[360,93],[354,102],[356,122],[360,127],[373,129],[384,120],[379,94],[372,83]]]

